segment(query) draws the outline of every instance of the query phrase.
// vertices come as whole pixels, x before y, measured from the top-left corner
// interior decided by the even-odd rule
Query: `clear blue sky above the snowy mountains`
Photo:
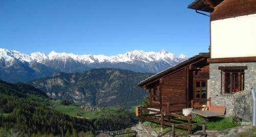
[[[194,0],[0,0],[0,47],[24,53],[115,55],[208,51],[209,17]]]

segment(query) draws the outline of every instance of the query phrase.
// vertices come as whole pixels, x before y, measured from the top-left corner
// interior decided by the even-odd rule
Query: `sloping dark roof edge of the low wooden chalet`
[[[168,73],[170,73],[170,72],[172,72],[174,70],[177,70],[177,69],[179,69],[181,67],[184,67],[188,63],[200,60],[200,59],[205,58],[205,57],[210,57],[210,54],[208,52],[207,53],[199,53],[196,56],[188,58],[187,60],[185,60],[183,62],[180,62],[177,65],[174,65],[174,66],[172,66],[170,68],[167,68],[167,69],[165,69],[165,70],[163,70],[163,71],[161,71],[159,73],[156,73],[156,74],[148,77],[147,79],[142,80],[140,83],[138,83],[138,86],[142,87],[142,86],[146,85],[147,83],[150,83],[153,80],[156,80],[156,79],[158,79],[158,78],[160,78],[160,77],[162,77],[162,76],[164,76],[164,75],[166,75],[166,74],[168,74]]]

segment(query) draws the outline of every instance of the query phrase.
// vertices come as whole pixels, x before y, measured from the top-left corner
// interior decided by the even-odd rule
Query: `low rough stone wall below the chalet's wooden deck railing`
[[[162,134],[163,132],[154,130],[150,127],[144,126],[142,124],[137,124],[136,126],[132,127],[133,131],[137,132],[137,137],[157,137],[158,135]],[[165,134],[164,137],[170,137],[172,135]]]

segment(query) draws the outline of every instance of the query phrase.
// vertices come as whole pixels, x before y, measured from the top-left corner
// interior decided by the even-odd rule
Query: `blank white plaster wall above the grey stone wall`
[[[210,23],[211,58],[256,56],[256,14]]]

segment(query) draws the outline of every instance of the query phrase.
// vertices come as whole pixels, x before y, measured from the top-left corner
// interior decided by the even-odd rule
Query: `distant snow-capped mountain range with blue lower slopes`
[[[58,71],[74,73],[92,68],[119,68],[135,72],[156,73],[185,59],[184,54],[176,56],[166,50],[161,50],[160,52],[133,50],[116,56],[104,56],[93,54],[76,55],[73,53],[57,53],[55,51],[50,52],[48,55],[41,52],[25,54],[0,48],[0,71],[2,72],[0,78],[5,79],[3,77],[8,77],[9,73],[17,72],[24,72],[26,75],[33,72],[32,77],[40,78],[41,71],[46,72],[46,70],[50,70],[50,72],[47,71],[47,74],[43,74],[44,76]],[[42,70],[42,68],[44,69]],[[12,72],[10,69],[17,72]],[[40,76],[35,76],[35,73],[40,73]],[[31,80],[31,78],[28,80]]]

